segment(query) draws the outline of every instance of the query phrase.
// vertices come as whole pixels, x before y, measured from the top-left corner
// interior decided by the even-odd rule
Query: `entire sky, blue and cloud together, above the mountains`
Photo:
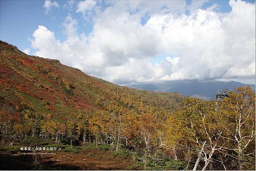
[[[0,39],[116,84],[255,84],[254,0],[0,0]]]

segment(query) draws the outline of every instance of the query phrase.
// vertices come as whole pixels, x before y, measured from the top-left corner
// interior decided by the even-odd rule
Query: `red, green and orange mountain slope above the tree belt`
[[[0,110],[16,120],[40,111],[46,119],[65,122],[113,110],[149,113],[166,119],[184,99],[179,93],[118,86],[58,60],[26,55],[3,41],[0,51]]]

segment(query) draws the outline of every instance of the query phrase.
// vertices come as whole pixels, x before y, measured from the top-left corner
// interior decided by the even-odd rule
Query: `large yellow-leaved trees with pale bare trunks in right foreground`
[[[166,147],[193,170],[255,170],[255,93],[223,91],[216,101],[187,99],[167,121]]]

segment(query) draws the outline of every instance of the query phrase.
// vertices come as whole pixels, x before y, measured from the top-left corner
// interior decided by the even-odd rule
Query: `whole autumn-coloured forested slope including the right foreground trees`
[[[0,82],[0,144],[7,153],[30,145],[83,153],[93,145],[130,157],[129,169],[255,169],[250,87],[223,91],[214,101],[136,90],[3,41]]]

